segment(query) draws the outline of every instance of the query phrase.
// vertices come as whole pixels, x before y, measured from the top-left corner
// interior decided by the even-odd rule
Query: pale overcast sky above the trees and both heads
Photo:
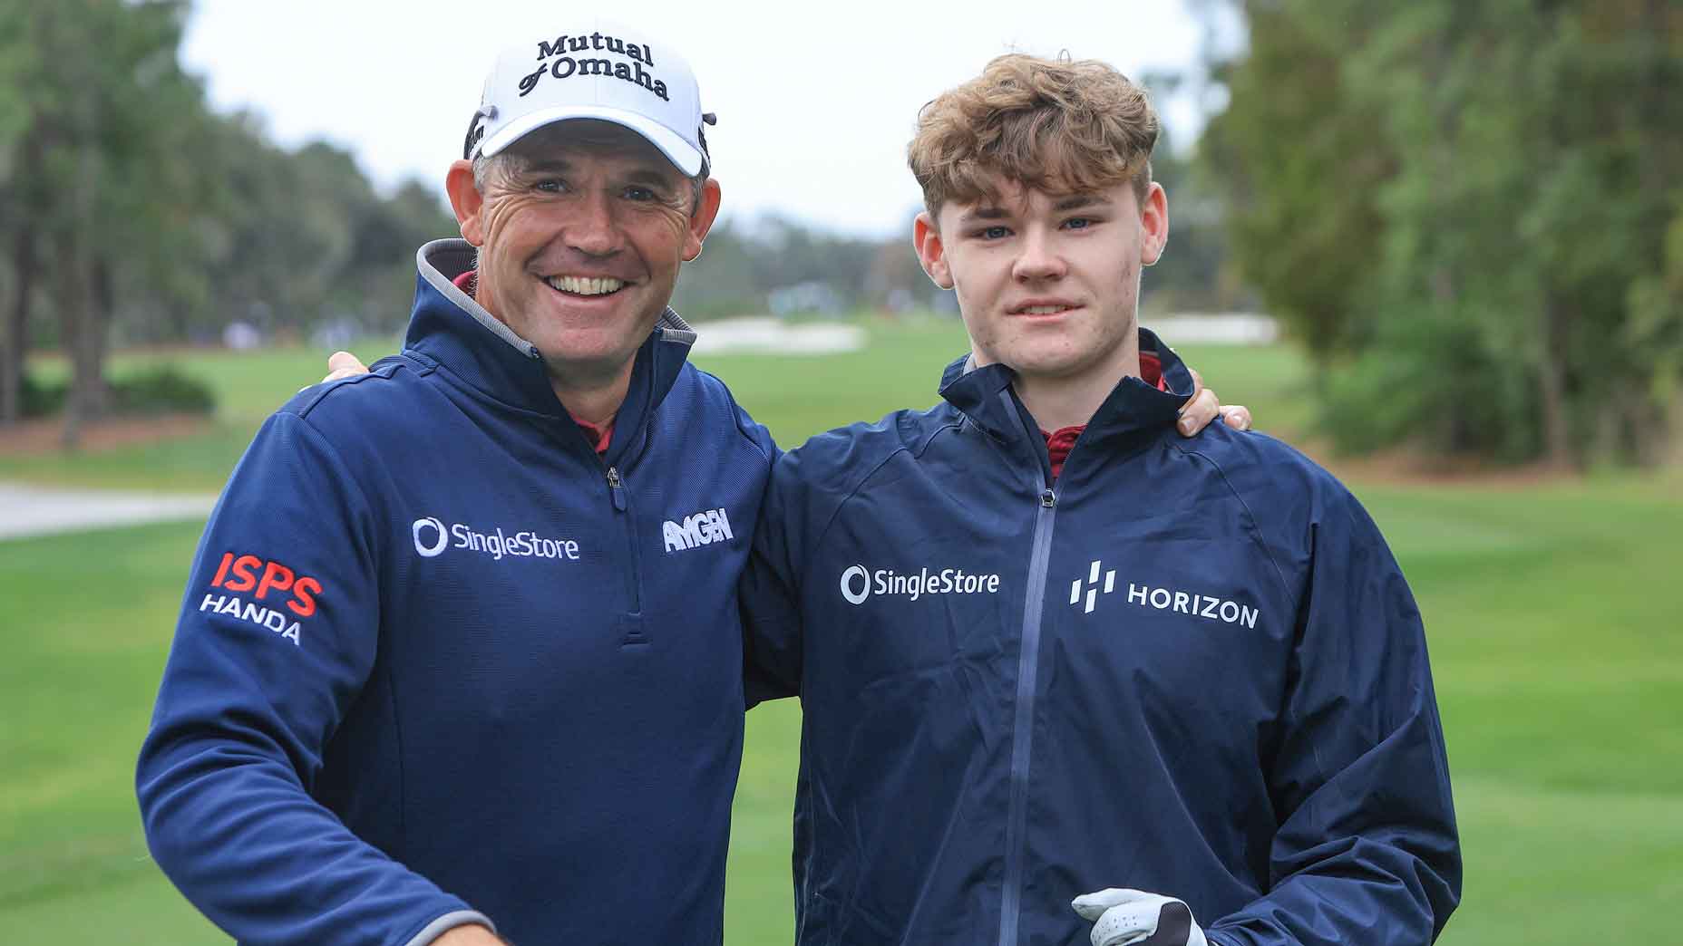
[[[199,0],[182,57],[215,108],[261,114],[286,146],[333,141],[382,187],[443,182],[496,52],[565,30],[569,7]],[[707,141],[727,215],[776,210],[873,236],[907,232],[917,209],[905,170],[917,108],[990,57],[1067,49],[1138,77],[1190,69],[1207,42],[1181,0],[638,0],[601,12],[690,61],[702,108],[719,114]],[[1195,96],[1160,108],[1190,138]]]

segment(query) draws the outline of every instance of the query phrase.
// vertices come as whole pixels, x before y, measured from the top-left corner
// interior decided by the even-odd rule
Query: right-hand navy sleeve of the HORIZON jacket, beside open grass
[[[1461,848],[1420,613],[1341,486],[1309,539],[1269,788],[1269,890],[1207,926],[1222,946],[1419,946],[1461,896]]]

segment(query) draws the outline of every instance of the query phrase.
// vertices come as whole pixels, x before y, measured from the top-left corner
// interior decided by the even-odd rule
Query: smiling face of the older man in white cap
[[[476,298],[537,345],[550,375],[592,387],[628,375],[719,212],[712,180],[692,183],[641,135],[562,121],[507,151],[503,170],[451,199],[480,249]]]

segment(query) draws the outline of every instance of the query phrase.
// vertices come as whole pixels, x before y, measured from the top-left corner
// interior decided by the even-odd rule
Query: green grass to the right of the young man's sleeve
[[[1466,853],[1442,943],[1675,941],[1683,500],[1619,481],[1358,492],[1432,648]]]

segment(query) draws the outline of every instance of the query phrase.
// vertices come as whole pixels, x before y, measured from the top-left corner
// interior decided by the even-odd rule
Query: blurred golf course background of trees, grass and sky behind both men
[[[414,251],[547,3],[0,0],[0,927],[222,943],[133,757],[204,515]],[[1678,941],[1683,7],[1670,0],[648,2],[725,217],[675,306],[784,446],[936,401],[917,108],[1008,50],[1165,114],[1143,322],[1370,507],[1432,646],[1466,853],[1442,943]],[[624,13],[629,17],[629,13]],[[749,715],[730,944],[789,943],[799,709]]]

